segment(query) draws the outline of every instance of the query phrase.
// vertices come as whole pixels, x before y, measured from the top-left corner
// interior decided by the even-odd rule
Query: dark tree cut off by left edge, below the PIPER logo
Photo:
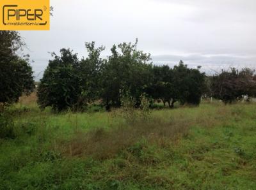
[[[33,92],[34,80],[28,59],[17,55],[25,45],[19,33],[0,31],[0,44],[0,103],[6,105]]]

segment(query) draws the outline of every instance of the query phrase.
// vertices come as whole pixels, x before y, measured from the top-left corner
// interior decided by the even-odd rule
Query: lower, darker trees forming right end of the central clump
[[[173,107],[175,101],[180,104],[199,105],[205,89],[205,74],[198,69],[189,69],[180,61],[173,69],[168,66],[154,66],[153,79],[148,94],[152,98],[168,102]],[[172,101],[172,103],[171,103]]]

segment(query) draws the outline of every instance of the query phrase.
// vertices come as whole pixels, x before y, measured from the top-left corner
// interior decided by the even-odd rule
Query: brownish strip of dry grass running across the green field
[[[217,112],[223,111],[217,110]],[[227,114],[229,113],[226,112],[225,116]],[[78,130],[71,140],[62,140],[58,143],[58,149],[65,156],[92,156],[97,159],[107,159],[126,150],[142,138],[163,146],[166,142],[177,140],[179,136],[186,136],[191,126],[209,127],[218,122],[221,122],[220,118],[214,117],[211,112],[205,110],[191,115],[174,112],[168,119],[152,114],[150,117],[134,116],[133,121],[120,124],[118,128],[109,130],[98,128],[87,133]]]

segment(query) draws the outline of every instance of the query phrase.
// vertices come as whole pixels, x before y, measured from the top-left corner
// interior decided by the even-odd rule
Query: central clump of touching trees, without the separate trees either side
[[[97,100],[118,107],[128,97],[134,106],[141,104],[141,96],[150,103],[157,99],[168,103],[198,105],[205,91],[205,74],[188,68],[182,61],[178,66],[153,66],[150,55],[137,50],[135,44],[122,43],[111,48],[108,59],[100,58],[104,47],[86,43],[88,57],[79,61],[77,54],[61,49],[61,55],[52,54],[44,77],[38,87],[38,104],[54,110],[84,108]]]

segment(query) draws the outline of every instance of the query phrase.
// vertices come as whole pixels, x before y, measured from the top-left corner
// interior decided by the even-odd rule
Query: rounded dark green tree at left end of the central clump
[[[77,108],[81,96],[77,54],[69,48],[62,48],[60,53],[60,56],[52,53],[54,59],[49,61],[37,91],[40,108],[52,106],[58,112]]]

